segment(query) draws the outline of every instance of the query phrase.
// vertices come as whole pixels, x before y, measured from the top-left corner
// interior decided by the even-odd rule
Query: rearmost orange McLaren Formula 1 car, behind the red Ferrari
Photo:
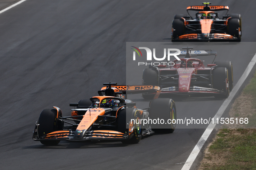
[[[228,6],[188,6],[188,11],[198,11],[193,18],[175,15],[172,21],[172,41],[241,41],[240,14],[227,13],[219,16],[215,11],[227,10]]]

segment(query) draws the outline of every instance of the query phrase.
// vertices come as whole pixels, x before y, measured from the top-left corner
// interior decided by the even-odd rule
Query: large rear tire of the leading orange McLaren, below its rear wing
[[[169,98],[157,98],[152,100],[149,108],[149,119],[160,120],[159,124],[151,125],[153,131],[163,133],[174,132],[177,120],[175,102]],[[164,123],[161,122],[162,119],[164,120]]]

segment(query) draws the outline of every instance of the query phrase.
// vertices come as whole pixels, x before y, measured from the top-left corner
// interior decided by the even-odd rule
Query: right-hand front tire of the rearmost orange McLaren
[[[227,30],[229,35],[237,37],[237,41],[241,41],[242,29],[239,19],[229,19],[227,23]]]

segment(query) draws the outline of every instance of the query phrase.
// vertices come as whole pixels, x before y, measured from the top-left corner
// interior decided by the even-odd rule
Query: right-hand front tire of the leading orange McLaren
[[[127,114],[127,115],[126,115]],[[129,135],[129,128],[126,128],[127,123],[130,123],[131,119],[137,120],[134,122],[133,132]],[[118,113],[117,117],[117,127],[118,131],[122,133],[127,133],[129,139],[123,140],[123,144],[136,144],[142,138],[142,125],[140,124],[141,115],[140,112],[135,108],[126,108]]]

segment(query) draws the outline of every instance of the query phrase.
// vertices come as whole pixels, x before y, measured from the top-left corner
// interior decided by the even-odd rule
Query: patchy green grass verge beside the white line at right
[[[243,94],[253,96],[253,100],[248,102],[256,109],[256,73],[243,89]],[[239,107],[239,102],[233,105],[235,111]],[[235,116],[240,116],[239,111]],[[255,128],[256,113],[248,119],[249,123],[245,127]],[[209,152],[204,158],[211,162],[201,165],[205,170],[256,170],[256,129],[220,129]]]

